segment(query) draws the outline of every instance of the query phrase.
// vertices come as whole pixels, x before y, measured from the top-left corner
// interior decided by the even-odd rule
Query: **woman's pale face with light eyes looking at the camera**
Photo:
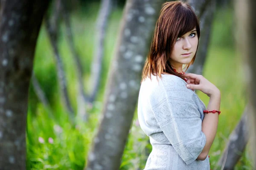
[[[198,46],[198,36],[196,29],[178,37],[172,50],[170,62],[172,66],[178,68],[182,64],[188,64],[195,56]]]

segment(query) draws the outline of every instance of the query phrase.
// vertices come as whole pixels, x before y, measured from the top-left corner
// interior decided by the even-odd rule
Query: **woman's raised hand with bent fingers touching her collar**
[[[200,90],[209,97],[212,97],[213,95],[220,95],[220,90],[214,84],[204,78],[204,76],[193,73],[187,73],[184,74],[184,76],[188,78],[186,81],[186,86],[188,89]]]

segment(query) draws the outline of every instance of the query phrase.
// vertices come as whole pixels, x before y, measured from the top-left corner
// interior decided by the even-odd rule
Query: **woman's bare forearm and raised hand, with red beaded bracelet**
[[[219,89],[212,83],[207,81],[201,75],[188,74],[189,81],[187,83],[190,85],[189,89],[198,89],[207,94],[209,98],[209,104],[207,110],[219,110],[221,103],[221,93]],[[204,120],[202,121],[202,132],[206,136],[206,144],[201,154],[198,156],[198,160],[205,160],[209,153],[210,147],[214,141],[215,135],[218,128],[218,112],[205,114]]]

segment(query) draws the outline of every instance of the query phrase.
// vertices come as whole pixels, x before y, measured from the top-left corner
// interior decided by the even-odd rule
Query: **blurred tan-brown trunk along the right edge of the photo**
[[[239,54],[244,61],[243,68],[245,71],[245,80],[248,91],[248,124],[250,132],[250,151],[253,157],[253,165],[256,167],[256,1],[255,0],[236,0],[235,1],[235,14],[236,22],[236,44],[239,49]]]

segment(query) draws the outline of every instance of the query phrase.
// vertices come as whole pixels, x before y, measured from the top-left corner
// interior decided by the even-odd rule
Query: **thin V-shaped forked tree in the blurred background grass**
[[[87,121],[88,115],[86,115],[86,104],[91,104],[99,91],[99,82],[102,72],[102,59],[104,56],[104,41],[105,41],[105,32],[108,25],[108,19],[109,15],[111,13],[111,7],[112,7],[112,0],[101,0],[101,5],[99,9],[99,15],[97,17],[96,22],[96,29],[97,29],[97,35],[96,35],[96,43],[95,43],[95,50],[93,55],[93,62],[91,64],[91,75],[90,75],[90,82],[91,82],[91,90],[90,93],[87,95],[84,92],[84,84],[83,84],[83,68],[81,65],[80,57],[78,53],[76,52],[74,40],[73,40],[73,34],[71,30],[71,24],[70,24],[70,14],[68,10],[68,2],[67,0],[61,0],[63,10],[62,14],[64,17],[64,23],[66,26],[66,32],[67,32],[67,38],[68,38],[68,44],[71,50],[71,53],[73,55],[73,59],[76,63],[76,70],[78,74],[78,84],[79,84],[79,95],[77,96],[77,108],[78,108],[78,114],[77,116]]]

